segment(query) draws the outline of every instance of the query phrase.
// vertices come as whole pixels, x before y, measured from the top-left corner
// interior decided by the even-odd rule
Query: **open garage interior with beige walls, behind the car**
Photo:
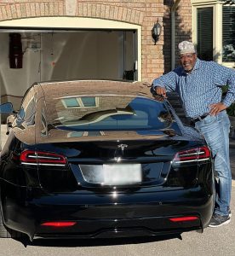
[[[135,30],[3,29],[0,40],[1,103],[15,110],[34,82],[138,77]],[[19,48],[21,66],[11,52]]]

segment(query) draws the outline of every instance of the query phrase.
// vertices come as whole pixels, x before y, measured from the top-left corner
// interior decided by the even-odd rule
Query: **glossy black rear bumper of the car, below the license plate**
[[[78,192],[46,195],[41,189],[28,191],[13,186],[11,196],[3,200],[3,218],[10,229],[26,233],[31,239],[158,236],[203,229],[213,208],[213,195],[198,188],[115,197]],[[198,219],[177,223],[169,220],[184,216]],[[76,224],[63,228],[41,225],[49,221]]]

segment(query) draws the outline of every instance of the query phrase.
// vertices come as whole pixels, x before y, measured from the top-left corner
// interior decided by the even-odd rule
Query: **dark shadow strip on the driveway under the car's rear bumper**
[[[181,235],[132,237],[132,238],[99,238],[99,239],[35,239],[30,241],[28,238],[14,239],[20,241],[24,247],[105,247],[127,244],[140,244],[170,239],[180,239]]]

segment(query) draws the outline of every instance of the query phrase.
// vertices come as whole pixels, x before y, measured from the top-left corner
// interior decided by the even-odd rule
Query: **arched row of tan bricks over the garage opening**
[[[122,1],[120,1],[122,2]],[[26,17],[60,16],[66,15],[66,0],[57,1],[1,1],[0,20],[13,20]],[[137,4],[137,8],[130,4],[115,4],[107,1],[77,1],[76,16],[95,17],[107,20],[120,20],[132,24],[142,25],[145,13],[143,6]]]

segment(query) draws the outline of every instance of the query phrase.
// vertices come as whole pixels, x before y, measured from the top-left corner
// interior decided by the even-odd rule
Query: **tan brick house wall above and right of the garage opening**
[[[142,27],[142,80],[152,82],[170,70],[170,7],[174,0],[77,0],[76,11],[66,12],[69,0],[2,0],[0,20],[13,20],[40,16],[95,17],[138,24]],[[181,0],[175,13],[175,45],[191,39],[191,0]],[[163,26],[157,45],[152,42],[152,26]],[[177,29],[178,28],[178,29]]]

